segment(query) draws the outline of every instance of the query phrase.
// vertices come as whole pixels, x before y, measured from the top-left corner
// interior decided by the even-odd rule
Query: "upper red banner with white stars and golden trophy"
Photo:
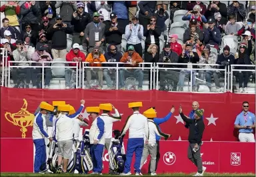
[[[187,140],[188,131],[185,122],[178,113],[182,104],[183,112],[191,112],[191,104],[197,100],[201,108],[205,109],[205,132],[203,140],[209,141],[237,141],[237,130],[234,122],[237,114],[241,112],[243,100],[255,107],[253,94],[234,94],[230,92],[221,94],[196,94],[163,92],[159,90],[130,91],[130,90],[42,90],[17,89],[1,87],[1,138],[31,138],[34,112],[41,101],[65,100],[67,104],[79,108],[81,98],[85,99],[85,106],[97,106],[103,102],[111,102],[122,115],[122,121],[113,124],[113,130],[122,130],[125,120],[133,112],[128,108],[128,102],[142,101],[141,112],[150,106],[157,108],[157,117],[165,117],[174,105],[176,111],[168,122],[161,124],[161,130],[172,134],[170,140]],[[251,110],[253,111],[253,110]],[[114,112],[111,112],[114,113]],[[87,112],[83,112],[85,118]],[[170,128],[171,127],[171,128]],[[225,127],[225,128],[223,128]],[[89,128],[89,127],[87,127]],[[220,136],[221,134],[221,136]],[[125,136],[127,138],[127,136]]]

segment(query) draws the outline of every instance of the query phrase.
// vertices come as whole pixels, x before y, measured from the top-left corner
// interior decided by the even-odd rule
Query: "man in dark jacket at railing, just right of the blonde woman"
[[[171,50],[171,43],[165,43],[165,48],[159,57],[159,63],[178,63],[179,56],[177,53]],[[177,65],[161,65],[160,67],[164,68],[176,68]],[[159,90],[166,90],[165,82],[168,80],[173,81],[173,91],[177,90],[177,85],[179,81],[179,71],[176,70],[160,70],[160,88]],[[167,88],[167,90],[169,90]]]

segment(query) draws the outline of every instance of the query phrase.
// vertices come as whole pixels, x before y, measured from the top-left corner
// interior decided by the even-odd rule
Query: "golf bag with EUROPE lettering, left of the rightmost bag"
[[[85,130],[83,140],[77,144],[75,156],[77,157],[75,169],[79,174],[87,174],[87,172],[93,170],[93,161],[90,155],[89,129]]]

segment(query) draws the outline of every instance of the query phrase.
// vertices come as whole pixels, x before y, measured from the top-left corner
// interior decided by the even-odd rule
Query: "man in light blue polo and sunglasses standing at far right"
[[[235,118],[235,128],[239,129],[240,142],[255,142],[253,129],[255,129],[255,114],[249,112],[249,102],[244,101],[243,111]]]

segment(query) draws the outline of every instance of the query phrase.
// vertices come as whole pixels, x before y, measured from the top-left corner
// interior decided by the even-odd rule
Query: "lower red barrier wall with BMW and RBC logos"
[[[127,140],[125,140],[125,148],[126,144]],[[197,168],[187,158],[187,147],[187,141],[161,141],[161,157],[157,173],[196,172]],[[255,173],[254,143],[204,142],[201,146],[201,156],[207,172]],[[134,169],[133,163],[134,160],[131,172]],[[103,158],[103,164],[105,166],[103,173],[107,173],[107,155]],[[143,174],[147,173],[148,164],[149,158],[142,168]],[[1,138],[1,172],[33,172],[33,140],[31,138]]]

